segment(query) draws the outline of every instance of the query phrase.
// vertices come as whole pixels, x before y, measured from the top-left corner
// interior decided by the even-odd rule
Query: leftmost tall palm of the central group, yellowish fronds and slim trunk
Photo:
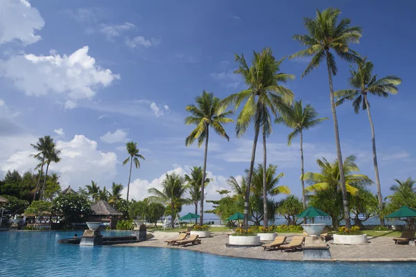
[[[208,139],[209,139],[209,127],[214,129],[218,135],[229,141],[229,136],[225,132],[222,124],[233,122],[231,118],[227,116],[231,115],[232,111],[220,111],[220,99],[214,96],[214,93],[208,93],[202,91],[202,94],[195,98],[196,105],[187,106],[187,111],[191,116],[185,118],[185,124],[197,125],[195,129],[185,139],[185,145],[189,146],[198,139],[198,147],[205,141],[204,152],[204,166],[202,168],[201,181],[201,197],[200,197],[200,225],[204,220],[204,185],[202,184],[207,174],[207,154],[208,154]]]

